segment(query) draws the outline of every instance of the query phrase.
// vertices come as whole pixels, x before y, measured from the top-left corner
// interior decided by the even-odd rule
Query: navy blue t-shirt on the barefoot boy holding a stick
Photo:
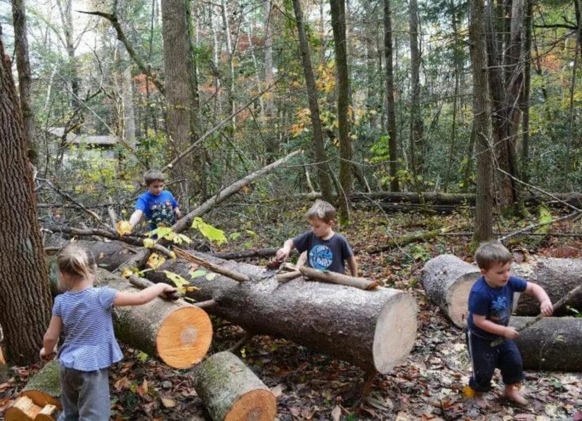
[[[504,286],[492,288],[480,277],[469,293],[469,314],[467,318],[468,328],[477,336],[485,339],[496,339],[499,335],[485,332],[473,323],[473,314],[486,316],[497,325],[507,326],[513,309],[513,293],[521,293],[527,288],[527,281],[517,276],[510,276]]]

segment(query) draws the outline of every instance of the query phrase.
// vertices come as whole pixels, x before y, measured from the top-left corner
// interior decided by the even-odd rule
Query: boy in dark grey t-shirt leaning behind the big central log
[[[306,214],[311,230],[288,239],[283,247],[277,250],[276,258],[283,260],[289,256],[292,248],[297,251],[308,251],[308,266],[318,270],[344,273],[345,262],[352,276],[358,276],[358,264],[353,251],[342,234],[333,232],[335,207],[324,200],[316,200]]]

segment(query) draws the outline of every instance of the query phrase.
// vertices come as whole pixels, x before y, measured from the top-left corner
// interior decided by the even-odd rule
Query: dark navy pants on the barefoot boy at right
[[[504,384],[522,381],[522,358],[513,339],[506,339],[492,347],[491,339],[481,338],[469,330],[466,335],[469,356],[473,363],[473,375],[469,380],[469,386],[473,390],[487,392],[491,389],[491,378],[495,368],[501,370]]]

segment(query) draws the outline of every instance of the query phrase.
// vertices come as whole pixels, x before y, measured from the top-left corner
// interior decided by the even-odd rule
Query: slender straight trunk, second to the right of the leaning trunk
[[[398,185],[398,139],[396,135],[396,101],[394,101],[394,59],[392,47],[392,10],[390,0],[384,0],[384,57],[386,62],[386,131],[390,153],[390,191],[400,191]]]

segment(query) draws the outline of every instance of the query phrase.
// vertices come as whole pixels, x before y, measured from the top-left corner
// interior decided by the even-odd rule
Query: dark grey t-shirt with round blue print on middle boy
[[[306,231],[293,239],[293,245],[300,253],[308,250],[308,266],[317,270],[344,273],[346,259],[353,256],[348,241],[337,232],[330,239],[322,240],[312,231]]]

